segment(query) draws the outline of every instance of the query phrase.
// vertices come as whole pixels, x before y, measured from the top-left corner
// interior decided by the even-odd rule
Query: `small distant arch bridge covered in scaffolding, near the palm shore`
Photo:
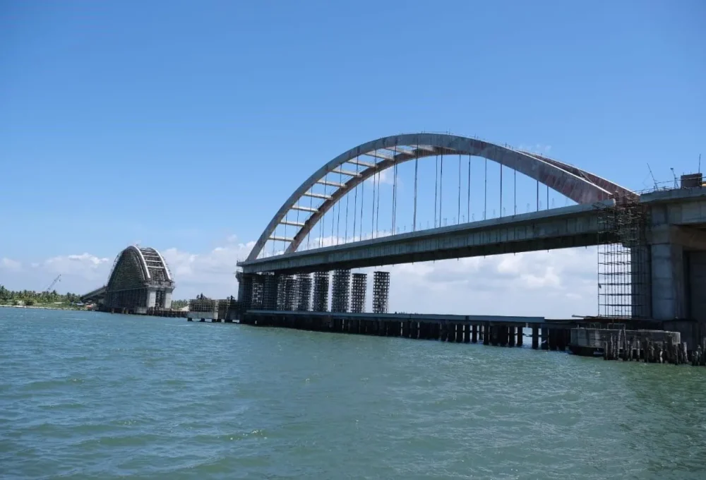
[[[116,256],[104,289],[104,308],[146,313],[171,308],[174,280],[155,248],[128,246]]]

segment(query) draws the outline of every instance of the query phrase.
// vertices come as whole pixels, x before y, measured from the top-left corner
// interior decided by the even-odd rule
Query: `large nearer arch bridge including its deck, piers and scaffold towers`
[[[458,176],[457,188],[454,186],[452,192],[455,224],[445,226],[441,222],[441,203],[444,156],[449,155],[453,158],[452,172]],[[418,214],[417,172],[419,160],[430,157],[436,159],[431,176],[435,182],[433,228],[424,229]],[[465,170],[462,157],[468,159]],[[461,221],[462,186],[467,186],[467,196],[463,198],[468,205],[465,217],[471,219],[475,188],[471,186],[472,157],[485,162],[485,184],[481,186],[485,203],[488,162],[500,167],[499,217]],[[412,231],[399,233],[397,167],[405,163],[414,167],[414,176],[407,184],[414,191],[413,205],[407,209],[408,213],[413,212]],[[503,215],[505,170],[514,182],[511,215]],[[391,219],[383,219],[391,220],[385,227],[391,227],[391,234],[381,236],[380,178],[385,171],[392,172],[392,181],[388,177],[393,190],[392,206],[387,210]],[[465,172],[467,181],[462,175]],[[517,173],[537,184],[536,212],[517,214]],[[366,180],[371,184],[368,192],[372,189],[372,200],[366,200],[365,205],[373,208],[366,218],[371,233],[364,236],[362,203]],[[546,186],[547,207],[550,189],[576,205],[540,209],[540,184]],[[362,313],[359,297],[364,296],[366,280],[364,274],[357,274],[351,284],[351,269],[598,246],[599,315],[672,325],[670,328],[681,330],[685,340],[693,344],[694,339],[700,341],[706,336],[706,189],[702,185],[700,174],[690,175],[683,177],[681,188],[640,196],[564,162],[475,138],[413,133],[371,140],[325,162],[277,210],[248,258],[238,263],[241,311],[321,312],[328,310],[330,298],[332,313]],[[342,201],[345,198],[347,201]],[[340,219],[345,217],[348,222],[349,205],[353,205],[353,235],[340,237]],[[484,218],[486,208],[484,205]],[[346,223],[346,230],[348,226]],[[335,239],[333,245],[324,241],[329,229]],[[318,239],[309,249],[311,234],[318,234]],[[282,244],[282,248],[277,248],[277,244]],[[267,245],[272,246],[271,256],[265,254]],[[306,249],[302,248],[304,245]],[[333,279],[329,277],[331,270],[335,273]],[[375,301],[373,298],[373,311]],[[377,301],[386,304],[386,299]],[[378,309],[376,313],[384,312]]]

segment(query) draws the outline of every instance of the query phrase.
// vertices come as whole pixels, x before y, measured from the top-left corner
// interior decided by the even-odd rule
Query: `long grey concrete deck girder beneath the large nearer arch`
[[[591,246],[598,242],[597,214],[610,205],[614,205],[613,200],[554,208],[259,258],[238,265],[244,273],[305,273]]]

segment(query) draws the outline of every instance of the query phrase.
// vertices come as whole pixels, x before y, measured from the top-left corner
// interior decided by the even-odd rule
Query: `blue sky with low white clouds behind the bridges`
[[[302,181],[395,133],[478,136],[649,188],[648,164],[671,181],[706,155],[705,84],[698,0],[1,1],[0,284],[61,273],[60,292],[85,292],[140,244],[167,258],[175,297],[233,294],[236,261]],[[518,188],[505,209],[535,201]],[[596,310],[590,248],[392,272],[398,311]]]

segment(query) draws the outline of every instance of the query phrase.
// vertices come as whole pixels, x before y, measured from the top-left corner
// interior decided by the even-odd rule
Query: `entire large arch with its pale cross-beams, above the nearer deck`
[[[296,252],[325,213],[366,179],[379,176],[381,172],[396,168],[399,164],[436,155],[468,155],[485,158],[500,164],[501,167],[520,172],[537,181],[538,185],[543,184],[580,205],[609,200],[616,194],[623,197],[635,196],[632,191],[578,167],[477,138],[443,133],[408,133],[388,136],[347,150],[311,174],[277,210],[253,246],[246,262],[257,260],[263,254],[268,241],[282,241],[288,244],[284,251],[285,255]],[[416,184],[415,172],[414,229],[417,229]],[[316,185],[331,187],[331,190],[318,193],[313,191]],[[304,198],[309,198],[309,206],[303,205]],[[311,205],[313,200],[318,204]],[[309,217],[302,221],[292,221],[289,220],[289,212],[304,212]],[[294,227],[294,235],[276,236],[275,230],[280,225]]]

